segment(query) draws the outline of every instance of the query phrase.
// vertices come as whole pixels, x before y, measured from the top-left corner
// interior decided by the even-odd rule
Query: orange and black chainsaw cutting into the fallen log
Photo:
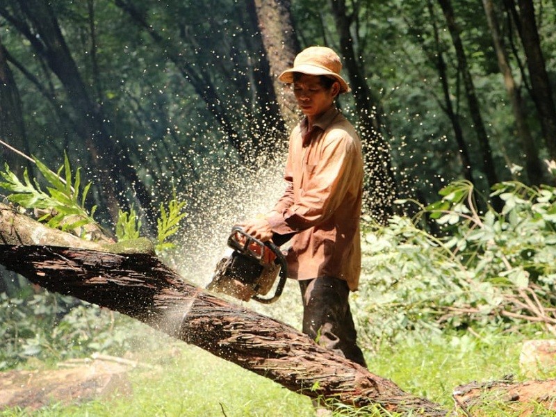
[[[278,300],[287,279],[286,259],[279,247],[270,240],[261,242],[238,226],[231,229],[227,243],[234,252],[218,262],[213,280],[206,288],[243,301],[270,304]],[[275,294],[261,297],[268,294],[277,277]]]

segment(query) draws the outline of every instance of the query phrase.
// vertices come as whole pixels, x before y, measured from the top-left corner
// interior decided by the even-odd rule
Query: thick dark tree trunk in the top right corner
[[[527,57],[534,104],[539,112],[544,141],[550,158],[556,160],[556,106],[548,79],[532,0],[518,0],[521,42]]]

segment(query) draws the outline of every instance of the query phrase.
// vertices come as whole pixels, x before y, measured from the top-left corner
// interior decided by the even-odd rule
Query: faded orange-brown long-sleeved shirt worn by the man
[[[363,158],[357,132],[336,108],[310,132],[306,119],[293,129],[284,179],[288,186],[268,222],[278,234],[297,232],[287,256],[289,277],[336,277],[357,290]]]

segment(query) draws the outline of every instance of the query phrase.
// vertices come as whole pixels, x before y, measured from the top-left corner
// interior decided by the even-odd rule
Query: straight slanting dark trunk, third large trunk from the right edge
[[[486,180],[489,186],[493,186],[498,183],[498,175],[494,169],[495,164],[492,158],[492,149],[489,143],[489,137],[486,134],[486,129],[484,127],[484,122],[481,117],[481,109],[479,105],[479,100],[475,93],[475,85],[473,84],[473,78],[471,77],[471,72],[469,71],[469,66],[467,63],[467,58],[464,50],[464,44],[461,42],[461,31],[456,23],[454,10],[452,8],[452,3],[450,0],[439,0],[439,4],[442,8],[446,24],[448,26],[448,31],[450,31],[450,36],[454,44],[454,48],[457,56],[458,69],[463,77],[464,88],[466,91],[467,103],[469,106],[469,113],[471,119],[473,120],[473,126],[475,133],[477,134],[477,140],[481,149],[482,162],[483,162],[483,172],[486,175]],[[501,208],[500,202],[494,202],[495,208]]]

